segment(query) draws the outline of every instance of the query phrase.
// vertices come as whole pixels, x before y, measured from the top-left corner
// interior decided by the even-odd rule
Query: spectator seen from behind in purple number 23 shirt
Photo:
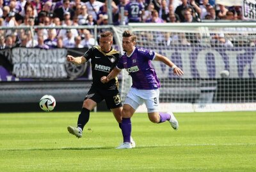
[[[136,0],[131,0],[127,5],[125,5],[124,10],[129,23],[141,22],[141,16],[144,14],[144,9]]]

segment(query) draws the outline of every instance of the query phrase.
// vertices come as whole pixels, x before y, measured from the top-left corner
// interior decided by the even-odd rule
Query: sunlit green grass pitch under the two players
[[[110,112],[69,134],[78,114],[0,113],[0,171],[256,171],[255,111],[175,113],[178,131],[135,113],[131,150]]]

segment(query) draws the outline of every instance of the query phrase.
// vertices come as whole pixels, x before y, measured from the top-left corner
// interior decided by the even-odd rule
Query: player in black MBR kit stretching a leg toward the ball
[[[122,103],[118,91],[118,80],[114,78],[108,84],[100,81],[102,76],[107,76],[117,65],[121,54],[113,49],[113,33],[110,31],[100,34],[99,45],[90,48],[81,57],[67,55],[67,61],[74,64],[83,64],[91,59],[92,63],[92,87],[86,94],[83,102],[83,108],[77,120],[77,127],[68,126],[68,132],[74,134],[77,138],[82,137],[84,125],[89,121],[90,111],[93,110],[97,103],[105,99],[108,108],[112,111],[121,128],[122,124]],[[131,145],[135,143],[131,138]]]

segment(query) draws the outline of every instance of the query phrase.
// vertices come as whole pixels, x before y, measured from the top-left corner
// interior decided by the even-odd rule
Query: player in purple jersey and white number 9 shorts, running
[[[131,117],[136,109],[143,103],[148,110],[148,118],[151,122],[162,123],[166,120],[170,122],[173,129],[177,130],[179,123],[173,113],[163,113],[158,111],[160,82],[157,78],[151,61],[161,61],[173,69],[173,73],[178,76],[183,75],[183,71],[178,68],[167,57],[157,54],[145,48],[135,47],[136,35],[130,31],[124,31],[122,47],[125,54],[122,55],[117,66],[108,76],[102,76],[102,83],[108,83],[115,78],[122,69],[132,77],[132,86],[127,94],[122,110],[122,134],[124,143],[117,148],[131,147]]]

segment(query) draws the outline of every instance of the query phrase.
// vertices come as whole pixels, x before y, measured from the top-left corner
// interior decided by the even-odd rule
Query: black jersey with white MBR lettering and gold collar
[[[100,78],[102,76],[108,76],[116,67],[121,57],[120,52],[112,48],[110,52],[104,53],[99,46],[95,46],[85,52],[83,57],[86,61],[91,59],[93,86],[104,89],[116,89],[116,85],[118,84],[117,78],[110,80],[108,83],[102,83]]]

